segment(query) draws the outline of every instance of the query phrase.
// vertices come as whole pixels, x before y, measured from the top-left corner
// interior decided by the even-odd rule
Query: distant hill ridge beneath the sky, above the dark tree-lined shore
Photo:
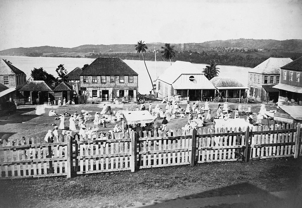
[[[40,46],[29,48],[11,48],[0,51],[0,55],[23,55],[23,56],[42,56],[50,53],[125,53],[136,52],[134,44],[112,44],[112,45],[81,45],[73,48]],[[147,43],[148,51],[153,51],[154,46],[159,50],[164,43]],[[215,48],[245,48],[245,49],[263,49],[263,50],[290,50],[302,51],[302,40],[254,40],[254,39],[234,39],[226,41],[207,41],[203,43],[183,43],[171,44],[175,46],[178,52],[183,51],[210,51]]]

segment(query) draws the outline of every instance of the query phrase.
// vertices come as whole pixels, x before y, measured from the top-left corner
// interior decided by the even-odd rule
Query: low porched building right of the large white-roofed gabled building
[[[248,89],[235,78],[213,77],[210,82],[216,87],[215,100],[218,102],[245,102]]]

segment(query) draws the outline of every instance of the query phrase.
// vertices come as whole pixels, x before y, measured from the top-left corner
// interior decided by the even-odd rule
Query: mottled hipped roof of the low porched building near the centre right
[[[232,77],[213,77],[210,82],[217,88],[217,89],[247,89],[242,83]]]

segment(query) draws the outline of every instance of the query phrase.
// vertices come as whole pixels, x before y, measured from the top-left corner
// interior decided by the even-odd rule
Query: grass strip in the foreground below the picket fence
[[[302,159],[198,164],[90,174],[71,179],[0,180],[0,207],[125,207],[176,198],[203,198],[294,189]]]

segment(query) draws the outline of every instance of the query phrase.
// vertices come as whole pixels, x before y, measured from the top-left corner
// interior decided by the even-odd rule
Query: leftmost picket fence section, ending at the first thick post
[[[0,147],[0,178],[66,175],[67,143],[62,137],[54,143],[40,138],[21,138]]]

